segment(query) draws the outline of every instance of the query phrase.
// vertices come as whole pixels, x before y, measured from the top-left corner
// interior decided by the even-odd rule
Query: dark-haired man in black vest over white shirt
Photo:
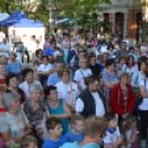
[[[93,75],[88,80],[88,87],[77,97],[75,110],[77,114],[82,114],[84,118],[92,115],[103,117],[105,114],[106,98],[98,88],[99,78]]]

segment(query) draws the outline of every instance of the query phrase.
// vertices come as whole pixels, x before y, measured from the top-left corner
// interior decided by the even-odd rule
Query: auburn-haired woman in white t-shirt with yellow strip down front
[[[57,98],[63,98],[70,106],[71,110],[74,112],[78,92],[77,85],[71,82],[70,70],[67,67],[63,67],[59,72],[59,76],[62,81],[55,85],[59,93]]]

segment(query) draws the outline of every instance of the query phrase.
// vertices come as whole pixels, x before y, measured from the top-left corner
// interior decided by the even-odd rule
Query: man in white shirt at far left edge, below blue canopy
[[[0,52],[1,52],[1,55],[4,55],[8,57],[8,53],[10,51],[10,45],[9,43],[7,43],[7,39],[4,38],[2,40],[2,43],[0,44]]]

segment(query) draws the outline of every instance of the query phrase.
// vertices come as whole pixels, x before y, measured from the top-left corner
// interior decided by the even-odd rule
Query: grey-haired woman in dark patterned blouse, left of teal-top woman
[[[42,85],[32,83],[29,86],[29,94],[30,99],[25,101],[22,105],[22,109],[33,126],[34,135],[40,135],[41,139],[44,141],[49,137],[45,120],[50,117],[50,113],[46,104],[42,102]],[[40,140],[39,137],[36,138]]]

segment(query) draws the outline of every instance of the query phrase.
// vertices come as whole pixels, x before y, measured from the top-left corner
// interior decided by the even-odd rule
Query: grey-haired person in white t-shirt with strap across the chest
[[[78,61],[80,68],[75,72],[74,81],[76,81],[78,93],[86,88],[85,77],[92,75],[91,68],[88,68],[87,59],[83,57]]]

